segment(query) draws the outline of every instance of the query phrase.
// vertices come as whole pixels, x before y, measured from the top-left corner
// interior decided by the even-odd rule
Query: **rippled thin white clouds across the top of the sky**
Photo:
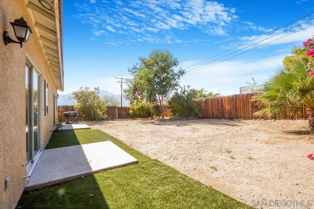
[[[214,35],[227,34],[230,23],[236,19],[235,9],[222,3],[206,0],[136,0],[108,1],[106,3],[79,5],[83,11],[77,17],[83,23],[90,23],[97,36],[108,35],[122,29],[130,36],[165,36],[173,29],[198,28],[200,32]],[[85,12],[84,12],[85,11]],[[127,33],[125,33],[127,34]],[[168,43],[175,42],[175,39]]]

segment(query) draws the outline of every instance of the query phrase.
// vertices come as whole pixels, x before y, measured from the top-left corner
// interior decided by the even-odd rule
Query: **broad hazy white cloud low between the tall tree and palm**
[[[238,94],[239,88],[247,86],[246,82],[252,81],[252,77],[258,84],[263,84],[269,75],[282,67],[282,61],[286,54],[261,60],[235,60],[225,61],[208,68],[200,67],[198,64],[187,70],[199,70],[188,74],[181,79],[182,85],[190,85],[195,89],[205,89],[208,92],[220,93],[222,95]],[[185,61],[181,67],[187,68],[199,63],[200,60]],[[194,71],[194,70],[192,70]]]

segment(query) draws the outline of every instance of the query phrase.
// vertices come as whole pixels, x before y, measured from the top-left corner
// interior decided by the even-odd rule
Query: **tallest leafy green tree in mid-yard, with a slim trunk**
[[[185,71],[179,66],[178,59],[167,50],[153,50],[148,58],[139,57],[139,64],[129,69],[133,76],[127,79],[126,98],[130,103],[138,101],[158,103],[161,117],[164,116],[165,99],[179,87],[179,80]]]

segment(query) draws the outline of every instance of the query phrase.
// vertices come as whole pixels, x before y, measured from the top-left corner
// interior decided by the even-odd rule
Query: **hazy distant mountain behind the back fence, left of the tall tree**
[[[114,94],[105,90],[100,90],[99,97],[101,99],[104,99],[105,96],[115,98],[119,102],[118,106],[121,105],[121,94]],[[74,99],[71,99],[72,97],[73,97],[73,93],[59,94],[58,105],[75,105],[76,101]],[[129,102],[125,100],[123,97],[122,97],[122,106],[123,107],[129,106]]]

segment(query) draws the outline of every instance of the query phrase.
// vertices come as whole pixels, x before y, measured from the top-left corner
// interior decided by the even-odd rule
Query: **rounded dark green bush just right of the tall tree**
[[[175,92],[169,100],[169,108],[173,116],[189,117],[195,116],[201,109],[196,105],[195,98],[200,90],[189,89],[189,86],[181,88],[180,92]]]

